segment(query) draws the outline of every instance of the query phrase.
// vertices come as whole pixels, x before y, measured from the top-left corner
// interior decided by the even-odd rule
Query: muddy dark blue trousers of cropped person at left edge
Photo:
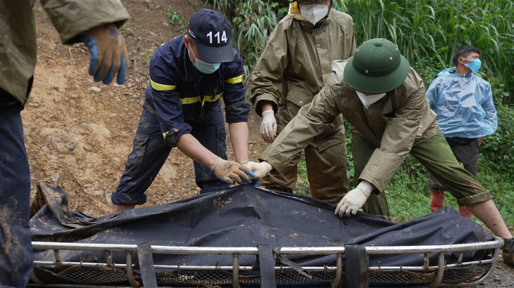
[[[26,287],[32,273],[30,170],[21,105],[0,105],[0,287]]]

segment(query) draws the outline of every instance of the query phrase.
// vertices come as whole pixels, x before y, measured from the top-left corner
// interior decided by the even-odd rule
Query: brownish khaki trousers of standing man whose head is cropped
[[[322,151],[308,145],[303,152],[312,197],[327,203],[339,203],[350,187],[346,143],[338,143]],[[270,176],[261,180],[261,185],[270,190],[292,193],[300,159],[301,153],[294,155],[282,174],[272,170]]]

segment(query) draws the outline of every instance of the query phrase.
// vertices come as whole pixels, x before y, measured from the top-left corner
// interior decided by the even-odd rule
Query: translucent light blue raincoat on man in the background
[[[491,84],[474,74],[455,74],[447,68],[427,89],[430,108],[437,113],[446,138],[479,138],[498,129]]]

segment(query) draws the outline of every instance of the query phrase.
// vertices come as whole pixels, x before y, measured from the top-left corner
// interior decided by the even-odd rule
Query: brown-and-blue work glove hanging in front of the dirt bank
[[[127,70],[127,46],[118,28],[112,23],[91,28],[80,35],[91,56],[89,75],[94,81],[110,84],[113,75],[118,74],[118,84],[125,83]]]

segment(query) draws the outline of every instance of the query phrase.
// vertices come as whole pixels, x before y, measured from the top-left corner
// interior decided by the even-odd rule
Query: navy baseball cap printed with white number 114
[[[226,63],[234,60],[230,27],[218,11],[205,8],[196,11],[189,18],[187,34],[194,40],[201,60],[206,63]]]

